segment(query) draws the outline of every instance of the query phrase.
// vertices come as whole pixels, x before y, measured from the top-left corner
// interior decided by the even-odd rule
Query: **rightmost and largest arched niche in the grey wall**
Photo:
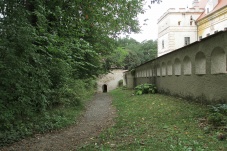
[[[217,47],[211,53],[211,74],[226,73],[225,51]]]

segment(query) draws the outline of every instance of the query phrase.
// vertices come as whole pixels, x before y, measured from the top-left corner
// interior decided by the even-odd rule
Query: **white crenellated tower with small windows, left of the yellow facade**
[[[158,20],[158,56],[197,41],[198,18],[204,9],[170,8]]]

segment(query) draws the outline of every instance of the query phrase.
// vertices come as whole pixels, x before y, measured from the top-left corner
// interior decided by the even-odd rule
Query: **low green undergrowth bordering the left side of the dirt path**
[[[43,112],[30,112],[30,115],[0,123],[0,147],[37,133],[58,130],[76,123],[77,117],[84,110],[85,103],[93,96],[94,88],[95,83],[89,83],[89,87],[82,82],[77,85],[75,82],[71,83],[71,86],[68,85],[63,93],[55,96],[56,99],[57,97],[60,99],[55,101],[55,105],[51,108]],[[7,115],[13,115],[6,111],[0,115],[0,121]]]

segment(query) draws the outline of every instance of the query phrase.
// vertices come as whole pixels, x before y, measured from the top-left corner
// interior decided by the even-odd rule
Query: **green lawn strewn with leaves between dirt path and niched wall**
[[[79,150],[227,150],[227,141],[219,141],[218,131],[204,122],[209,114],[206,106],[160,94],[132,93],[111,92],[116,124]]]

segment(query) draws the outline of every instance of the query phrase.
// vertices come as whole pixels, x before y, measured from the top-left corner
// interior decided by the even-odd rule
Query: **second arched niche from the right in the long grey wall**
[[[206,74],[206,57],[201,51],[195,56],[195,74]]]

